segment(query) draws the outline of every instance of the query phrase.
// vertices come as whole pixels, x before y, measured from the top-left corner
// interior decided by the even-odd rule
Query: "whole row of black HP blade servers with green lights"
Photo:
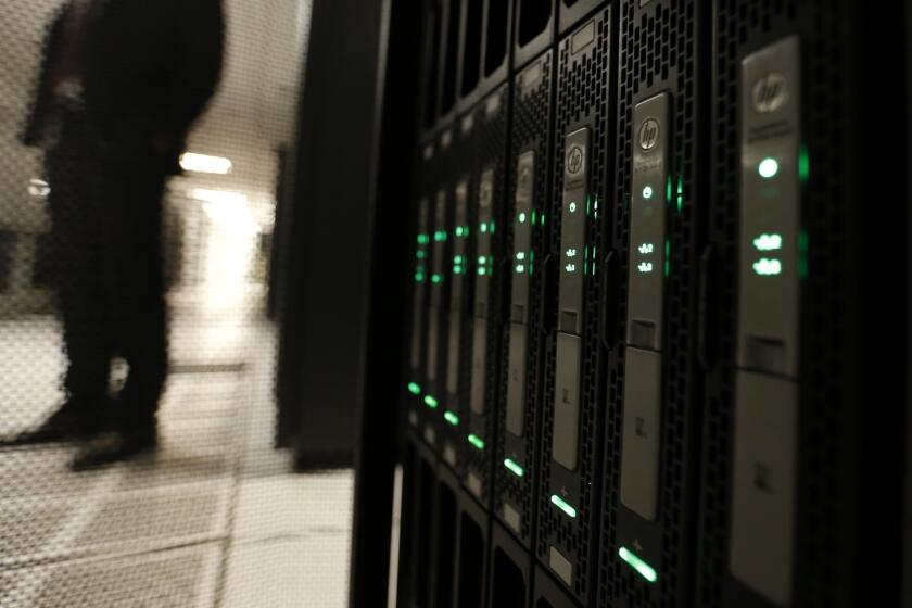
[[[901,472],[878,467],[904,418],[867,404],[902,375],[860,363],[886,337],[858,321],[885,305],[869,243],[904,242],[859,204],[895,192],[857,117],[907,111],[901,81],[851,94],[875,17],[425,11],[398,606],[849,607],[898,581]]]

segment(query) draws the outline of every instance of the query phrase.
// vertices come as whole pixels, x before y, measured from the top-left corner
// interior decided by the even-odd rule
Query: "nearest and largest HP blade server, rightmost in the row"
[[[904,144],[870,122],[897,125],[905,112],[902,86],[874,69],[901,61],[901,9],[719,0],[713,11],[718,326],[697,603],[862,606],[874,588],[892,598],[908,577],[890,541],[901,499],[873,480],[900,474],[908,438],[900,409],[871,404],[902,393],[904,355],[865,355],[895,342],[865,319],[907,315],[889,279],[904,258],[877,259],[907,238],[908,212],[884,221],[862,201],[895,198],[883,176],[904,170]]]

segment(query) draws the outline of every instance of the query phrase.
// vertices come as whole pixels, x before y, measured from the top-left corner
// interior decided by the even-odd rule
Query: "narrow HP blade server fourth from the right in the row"
[[[493,512],[532,549],[545,333],[542,299],[550,195],[554,54],[515,78],[509,156],[506,270],[508,325],[502,340]]]

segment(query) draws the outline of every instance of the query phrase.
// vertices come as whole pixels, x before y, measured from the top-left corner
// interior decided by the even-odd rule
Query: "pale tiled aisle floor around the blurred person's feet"
[[[0,364],[21,379],[4,426],[58,397],[46,319],[0,326],[22,355]],[[273,449],[271,327],[181,313],[172,334],[154,457],[73,473],[75,447],[0,449],[0,606],[344,605],[352,477],[292,474]]]

